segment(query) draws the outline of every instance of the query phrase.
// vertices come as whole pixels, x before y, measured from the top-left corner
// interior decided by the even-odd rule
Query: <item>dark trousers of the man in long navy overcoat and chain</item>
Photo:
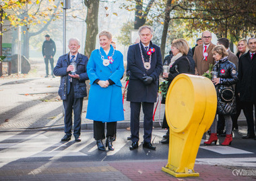
[[[144,113],[144,135],[145,142],[151,142],[152,127],[153,127],[153,109],[154,103],[135,103],[131,102],[131,141],[139,141],[139,113],[142,104],[142,110]]]

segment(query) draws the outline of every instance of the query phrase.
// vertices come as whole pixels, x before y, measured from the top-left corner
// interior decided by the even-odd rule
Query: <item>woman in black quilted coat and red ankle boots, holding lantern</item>
[[[234,97],[233,84],[238,81],[238,74],[236,66],[228,60],[228,52],[223,45],[218,45],[213,48],[212,53],[214,54],[213,74],[214,82],[217,91],[217,114],[224,115],[226,124],[226,138],[221,145],[230,145],[232,142],[232,119],[231,115],[236,111],[236,102]],[[211,126],[211,135],[208,141],[205,141],[205,145],[210,145],[212,142],[216,144],[218,141],[217,137],[217,120],[216,117]]]

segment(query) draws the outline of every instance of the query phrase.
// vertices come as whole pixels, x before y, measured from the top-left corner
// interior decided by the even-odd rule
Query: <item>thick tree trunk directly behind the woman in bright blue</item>
[[[87,7],[86,16],[86,47],[84,48],[84,54],[90,58],[92,50],[96,47],[96,36],[98,34],[98,7],[99,0],[84,0],[84,4]]]

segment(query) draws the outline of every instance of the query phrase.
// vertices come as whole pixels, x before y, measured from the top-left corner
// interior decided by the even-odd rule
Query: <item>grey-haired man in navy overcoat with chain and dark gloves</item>
[[[139,28],[140,42],[129,46],[127,69],[130,71],[127,101],[131,107],[130,149],[139,146],[139,113],[141,105],[144,113],[143,147],[156,149],[151,143],[153,127],[153,109],[158,93],[158,78],[162,72],[161,51],[152,44],[153,29],[150,26]]]

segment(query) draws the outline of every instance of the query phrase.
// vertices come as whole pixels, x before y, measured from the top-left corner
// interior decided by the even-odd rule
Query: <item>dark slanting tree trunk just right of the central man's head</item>
[[[162,30],[162,40],[161,40],[161,54],[162,60],[164,60],[164,50],[166,44],[166,37],[168,32],[168,26],[170,22],[170,7],[171,7],[172,0],[168,0],[166,3],[165,15],[164,15],[164,29]]]

